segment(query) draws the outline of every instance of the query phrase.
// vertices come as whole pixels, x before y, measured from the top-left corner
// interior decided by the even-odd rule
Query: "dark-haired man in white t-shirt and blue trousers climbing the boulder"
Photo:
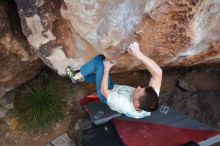
[[[140,51],[137,42],[130,44],[127,51],[141,60],[152,75],[147,86],[134,88],[115,84],[109,76],[109,71],[116,63],[105,60],[103,55],[90,60],[80,68],[80,71],[72,71],[67,67],[66,72],[74,83],[83,80],[96,83],[99,99],[112,110],[128,117],[143,118],[158,108],[162,70]]]

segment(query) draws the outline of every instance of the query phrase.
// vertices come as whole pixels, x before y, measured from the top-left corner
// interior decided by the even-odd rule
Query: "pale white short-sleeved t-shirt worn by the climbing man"
[[[128,117],[143,118],[150,116],[150,112],[136,111],[133,106],[132,92],[135,88],[126,85],[114,85],[112,92],[107,97],[110,109],[125,114]],[[159,96],[159,90],[155,90]]]

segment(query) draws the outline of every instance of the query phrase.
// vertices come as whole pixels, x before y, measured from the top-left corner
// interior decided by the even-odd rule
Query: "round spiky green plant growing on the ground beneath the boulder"
[[[65,111],[66,90],[62,84],[36,79],[25,86],[14,99],[15,113],[26,130],[35,132],[49,129],[60,120]]]

